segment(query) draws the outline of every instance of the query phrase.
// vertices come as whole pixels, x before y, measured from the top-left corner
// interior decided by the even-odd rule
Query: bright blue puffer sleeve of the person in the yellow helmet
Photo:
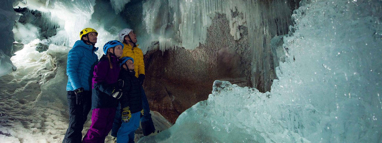
[[[68,53],[66,75],[68,75],[68,80],[70,81],[73,89],[82,87],[80,77],[78,75],[78,66],[81,61],[81,57],[83,57],[83,51],[79,48],[72,48]]]

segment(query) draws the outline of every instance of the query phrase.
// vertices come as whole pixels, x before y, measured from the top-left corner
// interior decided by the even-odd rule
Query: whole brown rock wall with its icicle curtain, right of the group
[[[177,4],[180,7],[183,5],[181,2]],[[204,4],[206,3],[195,5],[203,7]],[[222,6],[224,4],[232,7]],[[145,7],[147,3],[143,5]],[[150,11],[170,14],[164,16],[170,20],[150,19],[154,22],[149,23],[154,25],[146,24],[152,35],[162,35],[162,40],[150,43],[154,50],[145,55],[146,77],[150,82],[145,82],[144,86],[154,111],[175,122],[185,109],[197,101],[207,99],[207,95],[211,93],[210,83],[216,79],[227,80],[243,87],[255,87],[261,92],[270,90],[273,79],[277,79],[274,68],[278,61],[274,60],[278,59],[277,55],[280,58],[283,56],[280,43],[275,45],[272,52],[270,41],[277,35],[288,34],[291,11],[297,7],[295,1],[209,1],[205,8],[194,10],[194,15],[201,16],[180,12],[178,15],[182,16],[179,19],[172,19],[176,15],[171,16],[176,11],[173,10],[174,5],[167,7],[151,4],[153,7],[144,11],[146,18],[147,15],[156,14],[149,13]],[[185,33],[182,32],[185,30],[182,29],[182,24],[193,19],[195,25],[192,26],[195,27],[188,29],[199,29],[199,33],[176,37],[178,33]],[[182,20],[185,23],[179,22],[179,27],[174,24]],[[147,19],[143,21],[147,22]],[[172,34],[168,34],[170,32]],[[205,37],[203,32],[206,32]],[[195,40],[195,37],[198,39]],[[190,43],[185,43],[184,40]],[[275,40],[282,42],[280,37],[275,37]],[[190,48],[194,46],[196,48]]]

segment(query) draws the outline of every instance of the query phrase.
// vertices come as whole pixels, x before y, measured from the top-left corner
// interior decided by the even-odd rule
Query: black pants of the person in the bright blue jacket
[[[81,143],[82,130],[87,119],[87,114],[92,106],[92,92],[84,91],[83,105],[76,104],[76,94],[74,91],[68,91],[68,106],[69,106],[69,127],[66,130],[63,143]]]

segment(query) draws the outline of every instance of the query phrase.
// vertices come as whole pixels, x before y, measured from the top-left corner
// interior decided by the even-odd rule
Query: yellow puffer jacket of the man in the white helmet
[[[123,53],[122,57],[131,57],[134,59],[134,71],[135,71],[135,76],[138,77],[139,74],[144,74],[144,62],[143,62],[143,53],[140,48],[134,47],[130,44],[123,43]]]

